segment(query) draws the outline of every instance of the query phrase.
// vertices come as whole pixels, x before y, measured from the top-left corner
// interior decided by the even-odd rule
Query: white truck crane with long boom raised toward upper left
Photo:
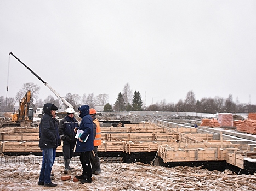
[[[56,116],[58,116],[59,118],[63,118],[64,116],[66,116],[66,115],[67,115],[66,109],[67,109],[67,108],[73,108],[73,106],[72,106],[69,102],[67,102],[67,100],[66,100],[64,97],[61,97],[60,94],[55,91],[55,89],[53,89],[47,82],[45,82],[41,77],[39,77],[33,70],[31,70],[29,67],[27,67],[27,65],[24,64],[24,63],[23,63],[18,57],[16,57],[12,52],[10,52],[9,55],[12,55],[14,58],[16,58],[22,65],[24,65],[24,67],[25,67],[26,69],[28,69],[28,70],[29,70],[33,75],[35,75],[41,82],[43,82],[43,84],[44,84],[46,87],[48,87],[48,88],[50,89],[50,91],[52,91],[52,92],[55,94],[55,96],[56,96],[57,98],[61,99],[61,101],[62,101],[65,105],[60,105],[60,106],[59,106],[58,111],[56,111]],[[39,110],[40,110],[40,109],[39,109]],[[39,110],[38,110],[38,112],[39,112]],[[43,110],[43,109],[41,108],[41,110]],[[37,116],[38,116],[39,118],[41,118],[42,115],[43,115],[42,112],[41,112],[41,114],[39,114],[39,113],[37,114]]]

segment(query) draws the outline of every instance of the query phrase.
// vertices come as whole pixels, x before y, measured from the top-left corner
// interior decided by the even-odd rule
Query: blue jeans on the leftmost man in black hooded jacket
[[[53,148],[44,148],[43,149],[43,162],[39,176],[39,182],[50,183],[50,172],[52,171],[53,166],[53,155],[54,149]]]

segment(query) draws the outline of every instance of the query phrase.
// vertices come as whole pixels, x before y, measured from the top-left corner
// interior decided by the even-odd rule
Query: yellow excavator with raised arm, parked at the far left
[[[13,111],[12,122],[29,124],[33,121],[33,110],[29,108],[31,91],[28,90],[25,96],[20,100],[18,112]]]

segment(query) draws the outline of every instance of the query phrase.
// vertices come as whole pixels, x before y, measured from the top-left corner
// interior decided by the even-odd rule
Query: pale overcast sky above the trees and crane
[[[63,97],[114,104],[129,83],[146,106],[190,90],[256,104],[256,1],[0,0],[0,27],[0,96],[13,52]],[[28,82],[54,96],[10,56],[8,97]]]

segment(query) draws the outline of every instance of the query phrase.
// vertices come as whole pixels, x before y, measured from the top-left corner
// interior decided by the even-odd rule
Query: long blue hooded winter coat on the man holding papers
[[[82,105],[78,108],[78,110],[81,111],[79,117],[82,118],[82,121],[78,129],[83,130],[83,134],[81,135],[80,139],[85,140],[87,136],[89,136],[86,142],[80,142],[79,139],[77,139],[75,152],[92,151],[94,148],[93,120],[92,117],[89,115],[89,109],[90,108],[88,105]]]

